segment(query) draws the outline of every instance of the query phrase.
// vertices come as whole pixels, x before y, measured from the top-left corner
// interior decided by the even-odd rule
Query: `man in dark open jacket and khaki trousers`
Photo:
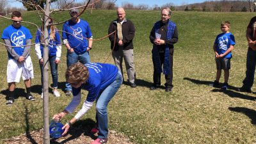
[[[122,62],[124,58],[125,67],[128,75],[128,81],[132,88],[136,87],[135,81],[135,67],[133,63],[133,44],[132,39],[135,35],[135,28],[131,20],[125,18],[124,8],[118,8],[116,11],[117,19],[113,20],[108,29],[108,33],[111,34],[116,31],[115,34],[109,36],[111,42],[111,49],[113,50],[112,56],[115,61],[116,67],[123,75]]]

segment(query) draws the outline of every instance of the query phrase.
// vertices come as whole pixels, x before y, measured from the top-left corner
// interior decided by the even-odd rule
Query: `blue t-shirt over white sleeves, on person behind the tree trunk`
[[[42,33],[40,32],[40,29],[37,29],[36,31],[36,38],[35,38],[35,43],[38,44],[40,43],[40,37],[42,35]],[[56,52],[57,52],[57,45],[61,45],[60,42],[60,33],[58,32],[58,29],[54,29],[55,31],[55,40],[52,40],[52,38],[50,38],[50,33],[51,33],[51,29],[48,29],[48,33],[49,33],[49,37],[48,37],[48,48],[49,48],[49,56],[56,56]],[[41,51],[41,56],[43,58],[44,56],[44,45],[40,44],[40,51]]]

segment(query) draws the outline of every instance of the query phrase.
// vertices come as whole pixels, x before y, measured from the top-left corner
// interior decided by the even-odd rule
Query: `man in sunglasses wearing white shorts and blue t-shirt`
[[[34,78],[33,64],[29,56],[32,35],[29,29],[21,25],[22,16],[18,11],[12,12],[12,25],[4,29],[2,39],[8,52],[7,82],[9,92],[6,96],[6,106],[14,102],[15,83],[20,82],[20,76],[26,86],[26,99],[35,100],[30,93],[31,78]]]

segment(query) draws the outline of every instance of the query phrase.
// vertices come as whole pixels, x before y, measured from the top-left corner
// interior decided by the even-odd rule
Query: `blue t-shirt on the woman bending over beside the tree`
[[[109,84],[113,83],[116,79],[118,69],[115,65],[106,63],[86,63],[84,64],[89,71],[89,77],[86,83],[82,84],[80,88],[73,88],[72,93],[74,96],[81,92],[81,88],[88,91],[86,100],[93,102],[99,93],[107,88]]]

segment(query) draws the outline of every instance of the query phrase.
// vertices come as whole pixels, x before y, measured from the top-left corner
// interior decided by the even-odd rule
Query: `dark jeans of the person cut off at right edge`
[[[255,73],[255,65],[256,65],[256,51],[252,49],[248,49],[247,58],[246,58],[246,76],[243,81],[243,88],[246,90],[251,90],[253,81],[254,81],[254,73]]]

